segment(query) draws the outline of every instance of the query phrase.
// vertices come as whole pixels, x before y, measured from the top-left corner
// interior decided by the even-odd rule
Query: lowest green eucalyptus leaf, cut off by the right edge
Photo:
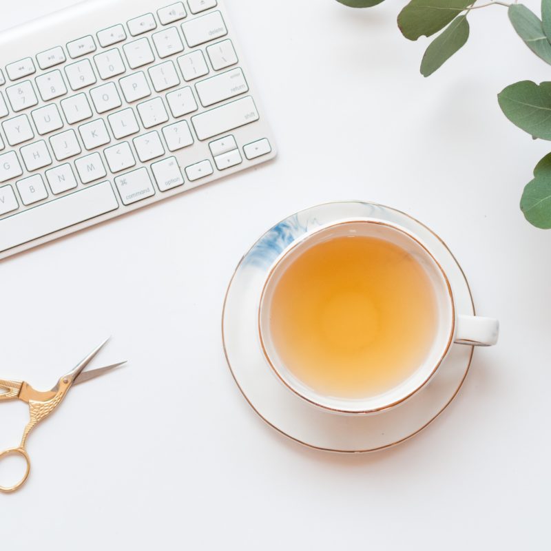
[[[534,179],[524,188],[521,211],[535,227],[551,229],[551,153],[534,169]]]

